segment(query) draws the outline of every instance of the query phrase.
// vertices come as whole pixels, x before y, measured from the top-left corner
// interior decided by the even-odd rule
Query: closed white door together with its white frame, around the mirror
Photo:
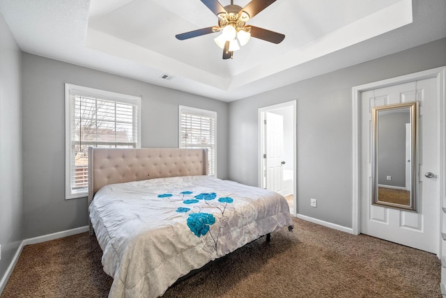
[[[440,256],[440,207],[445,189],[440,123],[445,116],[441,104],[445,68],[419,72],[353,88],[353,233],[364,233],[422,249]],[[442,82],[443,81],[443,82]],[[372,107],[401,102],[419,102],[420,141],[417,143],[417,212],[371,204]],[[442,166],[443,165],[443,166]],[[424,175],[435,173],[433,178]],[[387,176],[387,180],[392,179]]]

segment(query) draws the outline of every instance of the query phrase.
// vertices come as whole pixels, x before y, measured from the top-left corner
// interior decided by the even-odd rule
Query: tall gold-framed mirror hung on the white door
[[[417,212],[418,102],[372,108],[373,205]]]

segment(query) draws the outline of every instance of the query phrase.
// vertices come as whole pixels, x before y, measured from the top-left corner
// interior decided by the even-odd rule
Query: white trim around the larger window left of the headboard
[[[136,104],[137,111],[137,148],[141,146],[141,97],[103,91],[100,89],[65,84],[65,199],[84,198],[88,195],[86,191],[71,191],[71,132],[72,132],[72,105],[70,103],[70,94],[95,97],[101,100],[112,100],[128,104]]]

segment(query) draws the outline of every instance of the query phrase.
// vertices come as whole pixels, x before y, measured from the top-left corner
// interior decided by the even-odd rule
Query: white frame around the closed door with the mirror
[[[360,233],[360,194],[361,194],[361,154],[360,154],[360,142],[361,142],[361,132],[360,132],[360,125],[361,125],[361,119],[360,119],[360,100],[361,100],[361,93],[364,91],[370,91],[374,90],[376,88],[384,88],[388,86],[398,85],[398,84],[404,84],[411,81],[419,81],[422,79],[431,79],[436,78],[437,80],[437,96],[438,96],[438,139],[439,142],[439,156],[438,160],[440,161],[440,173],[438,173],[438,180],[440,181],[440,197],[438,200],[440,210],[439,212],[439,230],[440,232],[445,233],[443,231],[443,225],[441,224],[443,221],[443,210],[442,207],[446,206],[446,181],[444,179],[446,174],[446,66],[440,67],[440,68],[433,68],[431,70],[424,70],[422,72],[415,72],[410,75],[403,75],[401,77],[394,77],[392,79],[385,79],[383,81],[376,81],[369,84],[364,84],[360,86],[355,86],[352,88],[352,107],[353,107],[353,189],[352,189],[352,195],[353,195],[353,223],[352,223],[352,230],[353,234],[358,235]],[[441,234],[441,233],[440,233]],[[438,235],[438,237],[441,237],[441,235]],[[440,239],[441,240],[441,239]],[[439,252],[441,255],[441,241]]]

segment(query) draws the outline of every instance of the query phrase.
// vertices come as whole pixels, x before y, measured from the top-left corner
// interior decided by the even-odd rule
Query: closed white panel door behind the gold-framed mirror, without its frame
[[[406,84],[362,93],[362,182],[360,232],[397,242],[431,253],[439,253],[440,185],[436,79],[423,79]],[[419,118],[419,196],[417,213],[371,205],[371,107],[402,102],[420,103]]]

